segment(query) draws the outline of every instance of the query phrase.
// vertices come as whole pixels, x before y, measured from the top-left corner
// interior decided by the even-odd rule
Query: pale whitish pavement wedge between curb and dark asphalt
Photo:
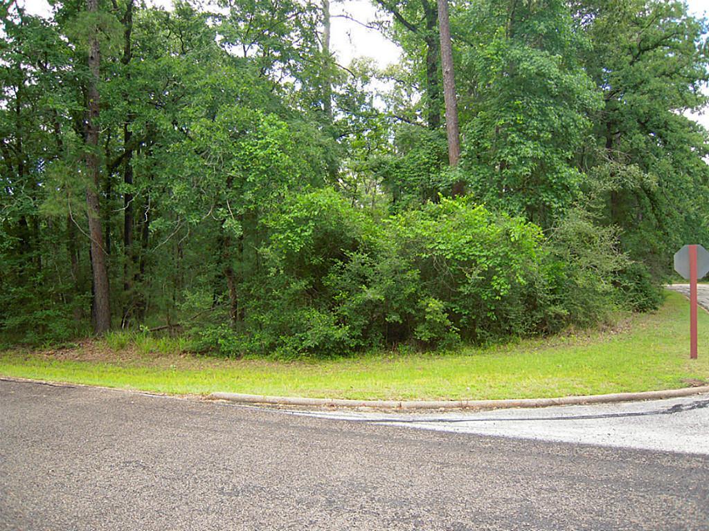
[[[625,404],[501,409],[477,413],[355,411],[299,414],[453,433],[709,455],[709,394]]]

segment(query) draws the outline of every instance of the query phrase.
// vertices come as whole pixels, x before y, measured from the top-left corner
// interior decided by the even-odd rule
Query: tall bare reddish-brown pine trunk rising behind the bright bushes
[[[448,161],[457,166],[460,159],[460,132],[458,128],[458,105],[455,98],[455,77],[453,70],[453,47],[448,21],[448,2],[438,0],[438,27],[441,40],[441,66],[443,70],[443,97],[445,98],[445,129],[448,136]],[[453,195],[463,195],[464,183],[453,185]]]

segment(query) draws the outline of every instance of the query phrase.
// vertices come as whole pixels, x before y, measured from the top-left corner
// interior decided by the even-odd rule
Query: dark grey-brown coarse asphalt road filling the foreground
[[[709,530],[709,457],[0,381],[0,530]]]

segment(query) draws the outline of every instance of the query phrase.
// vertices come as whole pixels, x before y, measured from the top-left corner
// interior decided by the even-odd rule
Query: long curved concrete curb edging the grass
[[[560,396],[546,399],[502,400],[352,400],[305,398],[301,396],[262,396],[258,394],[212,393],[210,400],[228,400],[240,404],[269,404],[272,406],[346,407],[374,409],[505,409],[541,408],[547,406],[574,406],[581,404],[612,404],[638,400],[661,400],[709,393],[709,385],[666,391],[639,393],[590,394],[586,396]]]

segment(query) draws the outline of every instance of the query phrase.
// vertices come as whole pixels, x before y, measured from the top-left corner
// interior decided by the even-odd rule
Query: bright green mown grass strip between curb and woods
[[[225,391],[350,399],[601,394],[708,382],[709,314],[699,312],[698,360],[688,359],[688,334],[689,305],[681,295],[668,293],[659,312],[627,317],[606,331],[465,347],[447,354],[381,353],[318,362],[226,360],[179,352],[175,341],[141,346],[109,338],[63,350],[1,351],[0,375],[172,394]]]

